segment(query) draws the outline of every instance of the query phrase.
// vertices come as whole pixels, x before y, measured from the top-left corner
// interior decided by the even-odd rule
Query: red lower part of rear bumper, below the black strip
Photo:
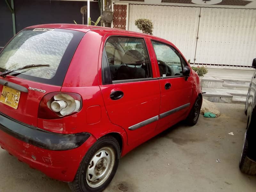
[[[27,163],[31,168],[53,179],[66,182],[73,181],[81,160],[95,142],[96,138],[91,136],[78,148],[52,151],[35,147],[0,131],[0,145],[3,149],[16,156],[19,161]]]

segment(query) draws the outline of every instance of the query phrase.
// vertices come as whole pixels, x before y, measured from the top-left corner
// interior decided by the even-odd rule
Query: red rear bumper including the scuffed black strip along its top
[[[73,181],[81,160],[94,142],[96,139],[89,133],[45,132],[0,113],[1,147],[56,180]]]

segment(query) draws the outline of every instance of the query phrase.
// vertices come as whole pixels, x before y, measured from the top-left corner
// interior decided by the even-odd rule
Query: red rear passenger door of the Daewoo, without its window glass
[[[120,34],[120,32],[108,33],[104,36],[103,42],[111,36],[124,36],[124,34]],[[133,37],[144,38],[141,34],[133,34]],[[104,44],[102,44],[101,50],[103,50],[103,46]],[[102,53],[100,55],[102,55]],[[99,61],[100,72],[101,60]],[[153,77],[156,77],[155,73],[153,73]],[[137,130],[129,130],[128,128],[138,122],[158,116],[160,108],[160,88],[157,79],[109,85],[102,85],[102,81],[100,80],[99,84],[108,117],[113,124],[124,128],[128,136],[128,145],[136,142],[140,143],[142,138],[148,138],[148,135],[155,131],[157,122],[148,124]],[[124,97],[120,100],[111,100],[110,93],[113,91],[124,92]],[[127,119],[129,120],[127,121]]]

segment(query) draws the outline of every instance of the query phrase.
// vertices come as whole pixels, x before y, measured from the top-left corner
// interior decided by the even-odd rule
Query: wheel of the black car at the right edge
[[[249,175],[255,175],[256,174],[256,162],[254,162],[252,159],[250,159],[248,156],[248,137],[247,137],[247,129],[244,133],[244,143],[243,143],[243,149],[241,153],[241,159],[239,162],[239,168],[241,172],[249,174]]]

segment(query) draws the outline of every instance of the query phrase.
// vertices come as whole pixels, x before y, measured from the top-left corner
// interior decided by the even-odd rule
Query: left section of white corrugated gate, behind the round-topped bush
[[[193,60],[199,13],[200,8],[194,7],[130,5],[128,29],[141,32],[134,25],[135,20],[150,19],[154,24],[153,34],[155,36],[171,41],[187,60]]]

